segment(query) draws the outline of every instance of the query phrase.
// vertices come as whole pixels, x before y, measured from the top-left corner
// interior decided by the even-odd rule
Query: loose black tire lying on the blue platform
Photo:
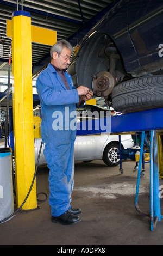
[[[118,84],[112,90],[112,107],[123,114],[163,107],[163,75]]]

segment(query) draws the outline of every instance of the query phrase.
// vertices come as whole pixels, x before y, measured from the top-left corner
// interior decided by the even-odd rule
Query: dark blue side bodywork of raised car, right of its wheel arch
[[[149,63],[161,62],[159,45],[163,43],[161,0],[120,1],[95,28],[111,36],[127,72],[154,70]],[[143,70],[144,71],[144,70]]]

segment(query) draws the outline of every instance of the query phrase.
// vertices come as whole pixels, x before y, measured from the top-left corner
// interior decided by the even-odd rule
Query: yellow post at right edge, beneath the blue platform
[[[163,135],[157,133],[158,141],[158,163],[159,163],[159,178],[163,179]]]

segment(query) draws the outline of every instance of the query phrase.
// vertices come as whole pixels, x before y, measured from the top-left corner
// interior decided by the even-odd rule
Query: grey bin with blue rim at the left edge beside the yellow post
[[[0,148],[0,221],[13,213],[12,149]]]

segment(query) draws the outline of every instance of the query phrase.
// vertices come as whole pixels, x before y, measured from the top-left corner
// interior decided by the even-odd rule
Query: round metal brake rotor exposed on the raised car
[[[115,86],[114,76],[107,71],[102,71],[93,76],[92,89],[99,97],[107,97]]]

